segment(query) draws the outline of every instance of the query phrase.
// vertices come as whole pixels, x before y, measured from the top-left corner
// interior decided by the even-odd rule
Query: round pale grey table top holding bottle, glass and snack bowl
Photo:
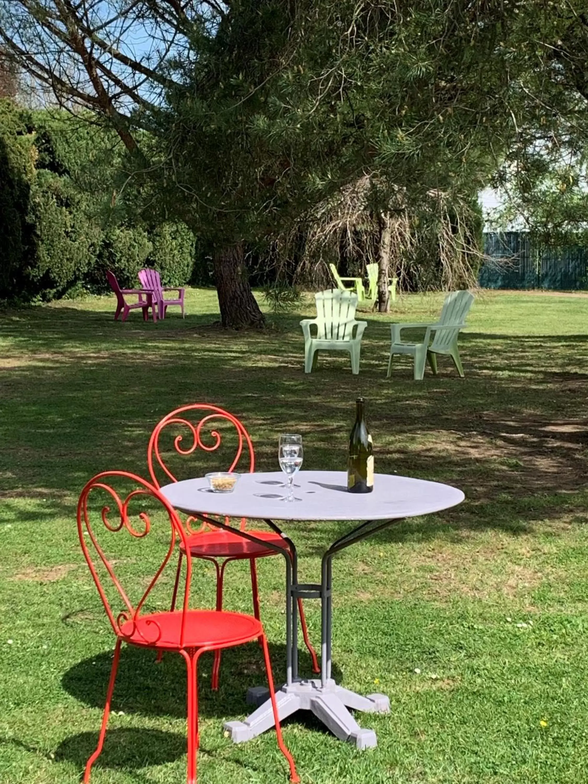
[[[371,493],[347,492],[346,471],[299,471],[288,503],[281,471],[241,474],[233,492],[209,489],[204,477],[165,485],[161,492],[176,509],[255,520],[394,520],[430,514],[464,499],[450,485],[423,479],[376,474]]]

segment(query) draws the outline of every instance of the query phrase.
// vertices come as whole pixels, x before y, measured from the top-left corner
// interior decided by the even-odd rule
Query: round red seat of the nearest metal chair
[[[181,612],[154,612],[125,621],[121,634],[132,645],[147,648],[209,648],[210,646],[239,645],[255,640],[263,634],[263,626],[252,615],[216,610],[189,610],[182,641]]]

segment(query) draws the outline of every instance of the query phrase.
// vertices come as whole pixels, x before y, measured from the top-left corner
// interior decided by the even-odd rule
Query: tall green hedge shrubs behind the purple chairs
[[[107,292],[109,269],[136,288],[147,265],[164,285],[191,279],[191,231],[146,227],[130,187],[114,199],[123,162],[110,130],[0,100],[0,299]]]

